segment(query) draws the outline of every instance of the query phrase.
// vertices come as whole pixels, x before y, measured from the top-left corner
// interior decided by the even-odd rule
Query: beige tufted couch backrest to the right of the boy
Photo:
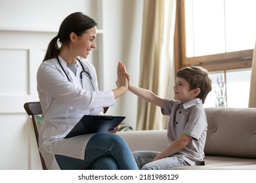
[[[256,158],[256,108],[205,108],[205,154]]]

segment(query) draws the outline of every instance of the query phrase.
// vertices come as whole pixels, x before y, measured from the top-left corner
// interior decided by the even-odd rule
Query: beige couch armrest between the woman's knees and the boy
[[[167,130],[142,130],[117,132],[125,139],[131,151],[154,150],[161,151],[168,145]]]

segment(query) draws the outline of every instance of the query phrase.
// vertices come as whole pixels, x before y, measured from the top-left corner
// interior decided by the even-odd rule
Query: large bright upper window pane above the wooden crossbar
[[[186,56],[254,48],[255,0],[186,0]]]

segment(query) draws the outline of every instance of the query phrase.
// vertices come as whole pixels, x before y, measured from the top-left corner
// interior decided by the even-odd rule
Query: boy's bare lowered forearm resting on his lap
[[[167,148],[160,152],[160,154],[158,154],[153,161],[166,158],[168,156],[175,154],[176,152],[184,148],[184,146],[186,146],[191,140],[191,136],[182,133],[182,135],[178,139],[173,141],[171,144],[169,144],[169,146],[167,146]]]

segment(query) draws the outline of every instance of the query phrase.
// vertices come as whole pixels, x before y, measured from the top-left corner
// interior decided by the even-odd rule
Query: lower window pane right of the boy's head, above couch
[[[217,71],[209,76],[212,89],[204,107],[248,107],[251,69]]]

